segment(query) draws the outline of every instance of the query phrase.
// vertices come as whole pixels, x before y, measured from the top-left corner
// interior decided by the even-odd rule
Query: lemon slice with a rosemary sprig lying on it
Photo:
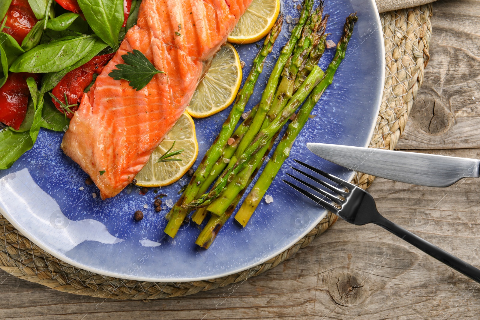
[[[173,158],[182,161],[156,163],[175,141],[170,152],[183,149],[183,152]],[[184,112],[163,141],[154,150],[144,168],[137,174],[137,186],[163,187],[180,179],[193,166],[198,154],[197,136],[192,117]]]

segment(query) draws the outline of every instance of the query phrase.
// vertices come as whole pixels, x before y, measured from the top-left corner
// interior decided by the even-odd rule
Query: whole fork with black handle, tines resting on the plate
[[[437,246],[432,245],[430,242],[414,235],[410,231],[402,228],[399,225],[394,224],[390,220],[384,218],[378,211],[377,211],[377,206],[375,205],[375,200],[373,200],[373,197],[370,193],[367,191],[345,181],[340,178],[337,178],[335,176],[332,176],[331,174],[328,174],[320,169],[314,168],[312,166],[307,165],[306,163],[303,163],[301,161],[295,160],[298,164],[305,166],[306,168],[312,170],[315,173],[318,173],[319,175],[324,176],[325,178],[328,178],[329,180],[335,182],[336,184],[346,188],[347,190],[342,190],[339,189],[330,183],[325,182],[322,179],[316,178],[306,172],[301,171],[300,169],[297,169],[293,166],[290,166],[290,168],[294,169],[295,171],[301,173],[305,177],[317,182],[318,184],[324,186],[328,190],[331,190],[333,192],[329,193],[326,192],[306,181],[303,181],[295,176],[292,176],[290,174],[287,174],[288,177],[291,177],[298,182],[302,183],[303,185],[307,186],[311,190],[314,191],[308,191],[308,190],[303,190],[297,185],[288,182],[287,180],[283,180],[286,184],[288,184],[290,187],[293,189],[297,190],[301,194],[307,196],[311,200],[315,201],[315,203],[321,205],[325,209],[331,211],[332,213],[335,213],[338,215],[340,218],[343,220],[354,224],[354,225],[366,225],[369,223],[379,225],[382,228],[390,231],[397,237],[400,237],[410,243],[411,245],[417,247],[418,249],[422,250],[428,255],[431,255],[433,258],[437,259],[440,262],[443,262],[444,264],[448,265],[449,267],[455,269],[459,273],[463,273],[467,277],[469,277],[472,280],[475,280],[476,282],[480,283],[480,270],[472,266],[471,264],[468,264],[467,262],[457,258],[456,256],[446,252],[443,249],[438,248]],[[324,197],[318,196],[317,194],[321,194],[325,198],[329,199],[330,201],[333,201],[336,205],[328,202],[325,200]],[[337,207],[338,206],[338,207]]]

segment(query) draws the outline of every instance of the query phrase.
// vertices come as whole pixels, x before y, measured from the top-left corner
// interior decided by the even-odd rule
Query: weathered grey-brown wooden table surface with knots
[[[433,3],[431,60],[398,149],[480,158],[480,2]],[[376,179],[387,218],[480,266],[480,180],[445,189]],[[338,221],[276,268],[185,298],[61,293],[0,270],[0,319],[478,319],[480,284],[375,225]]]

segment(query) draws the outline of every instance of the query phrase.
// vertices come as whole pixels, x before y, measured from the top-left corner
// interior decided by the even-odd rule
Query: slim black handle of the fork
[[[445,263],[447,266],[455,269],[459,273],[463,273],[468,278],[480,283],[480,270],[468,264],[467,262],[457,258],[453,254],[446,252],[437,246],[432,245],[430,242],[420,238],[419,236],[411,233],[410,231],[402,228],[399,225],[394,224],[384,216],[379,214],[379,217],[372,221],[373,224],[379,225],[385,230],[390,231],[397,237],[402,238],[411,245],[422,250],[426,254],[432,256],[440,262]]]

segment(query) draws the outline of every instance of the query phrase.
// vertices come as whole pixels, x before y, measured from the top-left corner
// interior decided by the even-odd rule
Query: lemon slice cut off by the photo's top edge
[[[228,42],[253,43],[266,36],[280,12],[280,0],[253,0],[228,36]]]

